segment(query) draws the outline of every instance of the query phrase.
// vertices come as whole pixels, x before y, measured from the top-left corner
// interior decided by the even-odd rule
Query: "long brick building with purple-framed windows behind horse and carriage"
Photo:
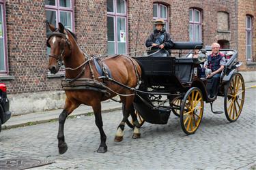
[[[238,15],[247,6],[252,10]],[[51,75],[46,69],[45,20],[65,24],[89,54],[143,49],[156,18],[165,20],[173,41],[218,41],[223,48],[242,53],[247,47],[240,44],[244,20],[250,16],[255,61],[255,15],[254,0],[0,0],[0,79],[12,94],[61,90],[63,73]],[[244,55],[240,59],[246,61]]]

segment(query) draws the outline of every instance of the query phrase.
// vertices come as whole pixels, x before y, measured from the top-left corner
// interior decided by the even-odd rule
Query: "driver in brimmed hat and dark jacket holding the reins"
[[[158,19],[154,22],[154,24],[156,29],[153,33],[151,33],[150,37],[145,42],[145,46],[147,48],[152,47],[148,54],[152,54],[160,48],[160,52],[162,53],[160,56],[169,56],[169,54],[171,54],[170,49],[173,46],[173,41],[171,41],[169,33],[167,33],[164,29],[165,22],[162,19]]]

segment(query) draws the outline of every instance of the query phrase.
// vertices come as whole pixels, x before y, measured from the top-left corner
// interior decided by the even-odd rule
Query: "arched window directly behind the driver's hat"
[[[160,3],[153,4],[153,20],[162,19],[165,21],[165,30],[169,32],[168,7]],[[155,29],[155,27],[154,27]]]

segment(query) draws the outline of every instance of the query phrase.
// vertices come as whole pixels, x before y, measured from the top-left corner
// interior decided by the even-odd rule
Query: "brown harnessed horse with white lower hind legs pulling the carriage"
[[[93,58],[84,54],[81,48],[76,43],[76,37],[74,33],[65,29],[63,24],[59,23],[59,28],[55,29],[52,24],[48,24],[52,34],[47,39],[47,45],[51,47],[49,54],[48,69],[51,73],[57,73],[59,71],[59,63],[63,63],[66,68],[66,80],[76,81],[79,79],[94,80],[96,82],[103,82],[99,79],[100,73],[96,69],[96,65],[93,62]],[[109,67],[111,76],[117,82],[120,82],[129,87],[135,87],[138,84],[138,76],[141,76],[141,68],[139,64],[132,58],[124,55],[117,55],[113,57],[106,57],[102,59],[102,63]],[[101,116],[101,101],[111,99],[118,94],[123,103],[124,118],[117,128],[115,135],[115,141],[122,141],[124,136],[124,125],[131,114],[135,124],[133,138],[139,138],[139,124],[134,114],[132,102],[134,95],[131,90],[123,88],[113,82],[104,80],[104,85],[109,95],[105,95],[100,90],[83,89],[83,90],[65,90],[66,102],[63,111],[59,115],[59,132],[57,135],[59,153],[63,154],[68,150],[68,146],[64,139],[64,123],[69,114],[81,104],[90,105],[94,110],[96,126],[100,131],[100,146],[97,152],[104,153],[107,151],[106,135],[103,131],[103,123]],[[97,87],[96,87],[97,89]]]

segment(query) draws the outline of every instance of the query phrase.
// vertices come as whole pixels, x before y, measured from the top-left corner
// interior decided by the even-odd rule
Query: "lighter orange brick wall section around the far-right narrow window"
[[[242,71],[255,71],[256,65],[246,62],[246,15],[253,17],[253,54],[252,61],[256,62],[256,3],[255,0],[238,1],[238,41],[239,60],[243,62]]]

